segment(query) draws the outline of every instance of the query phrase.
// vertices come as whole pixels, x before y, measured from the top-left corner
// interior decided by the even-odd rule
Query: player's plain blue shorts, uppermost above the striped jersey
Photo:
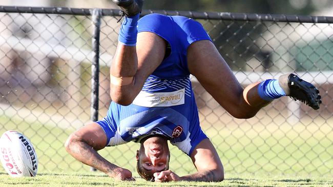
[[[183,16],[149,14],[138,21],[138,32],[152,32],[165,39],[171,54],[164,59],[152,75],[163,79],[177,79],[190,75],[187,50],[191,43],[211,40],[202,25]]]

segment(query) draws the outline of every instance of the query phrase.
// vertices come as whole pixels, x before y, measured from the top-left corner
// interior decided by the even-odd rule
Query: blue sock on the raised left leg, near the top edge
[[[138,25],[140,14],[136,14],[131,17],[124,17],[122,21],[118,41],[124,45],[135,46],[136,37],[138,35],[138,30],[136,26]]]

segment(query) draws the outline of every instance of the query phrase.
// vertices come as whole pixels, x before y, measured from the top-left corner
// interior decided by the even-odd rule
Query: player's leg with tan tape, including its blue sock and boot
[[[162,62],[166,42],[150,32],[137,33],[142,0],[113,0],[123,15],[118,46],[110,68],[110,95],[114,102],[129,105],[144,81]]]

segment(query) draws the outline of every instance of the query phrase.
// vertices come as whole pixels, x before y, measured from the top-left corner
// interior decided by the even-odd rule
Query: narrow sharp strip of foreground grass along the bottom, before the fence
[[[43,173],[38,176],[11,178],[9,175],[0,173],[0,186],[333,186],[332,178],[316,177],[304,178],[295,176],[237,176],[226,175],[222,182],[167,182],[155,183],[143,179],[134,182],[115,181],[106,175],[82,175],[82,174],[59,174]]]

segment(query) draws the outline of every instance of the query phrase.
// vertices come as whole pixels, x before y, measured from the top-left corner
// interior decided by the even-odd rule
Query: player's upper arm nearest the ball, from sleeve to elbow
[[[95,150],[103,149],[107,145],[107,135],[105,131],[95,122],[73,132],[70,139],[85,142]]]

